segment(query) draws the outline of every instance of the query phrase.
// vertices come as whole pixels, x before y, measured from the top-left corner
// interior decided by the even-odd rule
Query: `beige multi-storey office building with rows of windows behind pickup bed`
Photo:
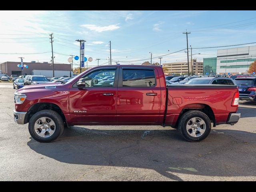
[[[168,74],[188,74],[188,62],[175,62],[163,64],[164,67],[168,68]],[[189,72],[191,74],[191,62],[189,62]],[[198,62],[193,59],[193,74],[203,74],[203,62]]]

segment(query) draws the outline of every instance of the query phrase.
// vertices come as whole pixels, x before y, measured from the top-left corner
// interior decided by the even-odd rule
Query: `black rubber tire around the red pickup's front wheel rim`
[[[54,134],[52,134],[52,136],[43,138],[43,137],[38,136],[38,134],[36,133],[36,131],[34,129],[34,124],[41,117],[48,117],[54,121],[56,126],[55,126],[55,132],[54,132]],[[42,143],[48,143],[48,142],[52,142],[52,141],[56,140],[59,136],[62,135],[63,130],[64,130],[64,122],[62,120],[62,117],[60,116],[60,114],[58,114],[57,112],[55,112],[53,110],[42,110],[42,111],[37,112],[36,114],[34,114],[32,116],[32,118],[29,120],[29,123],[28,123],[28,131],[29,131],[30,135],[32,136],[32,138],[34,138],[34,140],[36,140],[38,142],[42,142]]]

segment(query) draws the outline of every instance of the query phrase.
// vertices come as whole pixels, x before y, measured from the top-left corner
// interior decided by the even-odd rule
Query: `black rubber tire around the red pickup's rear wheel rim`
[[[192,118],[201,118],[202,120],[204,120],[206,126],[205,131],[201,136],[193,137],[190,134],[188,134],[186,125]],[[190,142],[198,142],[204,140],[210,134],[211,128],[212,124],[209,117],[198,110],[191,110],[184,113],[178,122],[178,130],[180,131],[180,134],[182,134],[184,139]]]

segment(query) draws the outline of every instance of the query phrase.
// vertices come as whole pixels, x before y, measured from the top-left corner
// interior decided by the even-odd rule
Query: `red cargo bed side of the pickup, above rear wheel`
[[[165,125],[176,124],[182,110],[212,110],[214,126],[226,123],[230,112],[236,112],[237,106],[231,106],[236,85],[187,84],[167,86],[167,110]]]

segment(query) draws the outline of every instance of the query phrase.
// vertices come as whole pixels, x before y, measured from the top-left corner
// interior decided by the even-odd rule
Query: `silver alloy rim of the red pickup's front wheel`
[[[56,126],[51,118],[40,117],[34,124],[34,130],[38,136],[47,138],[54,134]]]

